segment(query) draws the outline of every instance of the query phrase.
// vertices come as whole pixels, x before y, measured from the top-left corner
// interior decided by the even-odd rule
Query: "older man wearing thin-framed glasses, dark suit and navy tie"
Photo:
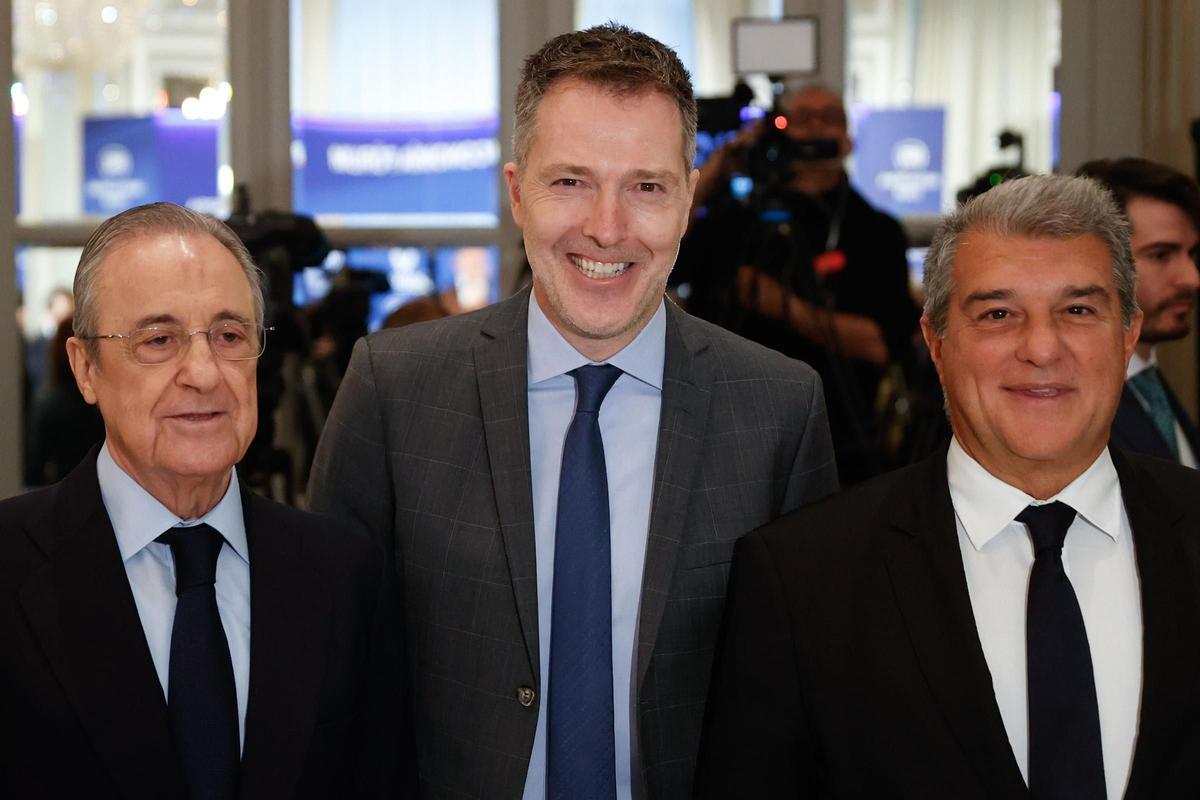
[[[74,288],[104,444],[0,503],[0,795],[395,796],[390,570],[233,469],[265,347],[245,247],[139,206],[96,229]]]

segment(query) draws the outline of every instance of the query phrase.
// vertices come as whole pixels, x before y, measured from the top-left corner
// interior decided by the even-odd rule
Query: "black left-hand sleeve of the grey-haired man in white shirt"
[[[696,796],[816,796],[814,750],[782,585],[766,543],[752,533],[734,549]]]

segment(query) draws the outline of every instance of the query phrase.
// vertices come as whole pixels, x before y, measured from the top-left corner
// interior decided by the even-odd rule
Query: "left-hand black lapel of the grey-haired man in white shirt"
[[[887,503],[881,549],[930,692],[982,786],[1025,794],[983,655],[946,479],[946,449],[911,468]]]

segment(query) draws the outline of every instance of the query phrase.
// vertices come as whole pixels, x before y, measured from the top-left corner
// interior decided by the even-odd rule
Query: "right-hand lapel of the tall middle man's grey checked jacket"
[[[642,685],[666,610],[679,543],[688,518],[688,501],[704,447],[712,366],[704,357],[708,339],[670,300],[666,302],[667,342],[662,374],[662,410],[654,456],[654,500],[650,511],[642,602],[637,620],[637,682]]]

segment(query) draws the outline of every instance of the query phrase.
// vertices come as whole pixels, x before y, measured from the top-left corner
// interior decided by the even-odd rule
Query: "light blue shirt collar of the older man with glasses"
[[[100,480],[100,497],[113,523],[113,533],[116,534],[121,560],[128,561],[170,528],[208,523],[248,564],[250,548],[246,546],[246,521],[241,512],[238,470],[230,468],[229,474],[229,487],[212,510],[197,519],[180,519],[118,467],[106,441],[96,458],[96,477]]]

